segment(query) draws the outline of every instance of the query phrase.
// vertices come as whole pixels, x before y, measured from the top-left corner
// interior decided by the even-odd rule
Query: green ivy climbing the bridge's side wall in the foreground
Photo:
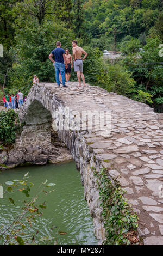
[[[94,175],[97,176],[97,185],[99,190],[99,200],[103,208],[104,228],[106,238],[104,245],[130,245],[139,244],[136,228],[139,218],[132,214],[132,209],[124,198],[118,181],[114,184],[109,180],[108,170],[102,168],[101,172],[92,167]],[[131,237],[133,236],[133,237]]]

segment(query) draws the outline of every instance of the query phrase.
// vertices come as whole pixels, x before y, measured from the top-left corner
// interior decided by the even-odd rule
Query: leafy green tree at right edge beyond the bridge
[[[159,56],[159,36],[147,38],[147,44],[140,52],[130,53],[123,59],[123,65],[132,70],[133,78],[137,82],[136,88],[151,95],[152,101],[163,103],[163,72]],[[141,94],[142,95],[142,94]],[[139,95],[139,96],[141,96]]]

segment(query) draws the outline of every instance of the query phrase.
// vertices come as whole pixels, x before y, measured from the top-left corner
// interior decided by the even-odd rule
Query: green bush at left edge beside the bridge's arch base
[[[0,140],[3,144],[11,144],[15,142],[17,126],[15,120],[17,115],[13,109],[0,111]]]

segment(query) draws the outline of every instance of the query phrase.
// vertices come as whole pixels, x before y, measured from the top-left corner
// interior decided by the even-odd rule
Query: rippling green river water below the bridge
[[[32,227],[29,225],[29,234],[39,230],[37,236],[57,237],[57,245],[97,245],[97,239],[93,233],[92,218],[89,214],[87,202],[84,200],[84,187],[80,181],[80,173],[76,170],[74,162],[62,164],[49,164],[46,166],[26,166],[14,169],[3,170],[0,173],[0,184],[5,181],[22,179],[23,175],[29,172],[30,182],[35,184],[30,194],[32,195],[37,187],[46,179],[56,185],[51,187],[55,191],[45,195],[42,192],[39,202],[46,201],[47,209],[43,210],[44,215],[36,218]],[[5,190],[4,186],[4,190]],[[15,206],[9,202],[8,197],[14,199]],[[10,192],[4,199],[0,199],[0,223],[7,227],[20,213],[23,200],[28,201],[22,192]],[[53,227],[53,230],[51,228]],[[60,235],[59,232],[67,232]],[[27,233],[27,231],[26,231]],[[40,241],[41,245],[42,242]],[[54,244],[44,242],[43,244]]]

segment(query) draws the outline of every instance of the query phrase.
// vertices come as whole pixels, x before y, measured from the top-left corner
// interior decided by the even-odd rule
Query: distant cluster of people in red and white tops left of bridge
[[[26,96],[23,97],[23,94],[20,90],[18,90],[18,93],[15,94],[7,94],[3,95],[3,104],[5,109],[16,109],[18,107],[21,107],[23,102],[26,101]]]

